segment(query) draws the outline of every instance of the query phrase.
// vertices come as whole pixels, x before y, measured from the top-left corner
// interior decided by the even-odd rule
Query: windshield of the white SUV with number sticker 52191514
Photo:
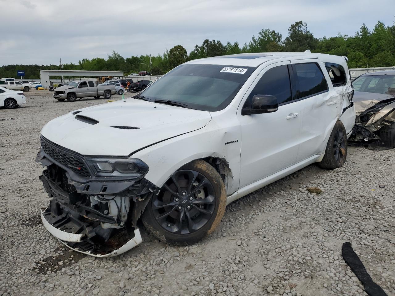
[[[243,74],[232,69],[240,69]],[[229,105],[254,70],[254,67],[181,65],[146,88],[141,96],[186,104],[191,109],[219,111]]]

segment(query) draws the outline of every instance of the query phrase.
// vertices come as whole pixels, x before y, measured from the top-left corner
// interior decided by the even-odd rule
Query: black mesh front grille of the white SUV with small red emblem
[[[73,172],[89,177],[90,173],[87,169],[82,157],[68,151],[66,148],[59,146],[41,136],[41,148],[58,163],[68,167]]]

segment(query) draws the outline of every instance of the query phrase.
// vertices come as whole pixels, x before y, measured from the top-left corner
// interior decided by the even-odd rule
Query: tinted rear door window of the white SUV
[[[310,97],[328,90],[324,74],[317,63],[293,64],[297,98]]]

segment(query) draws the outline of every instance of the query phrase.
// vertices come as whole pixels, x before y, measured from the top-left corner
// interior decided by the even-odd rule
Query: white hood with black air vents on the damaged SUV
[[[157,142],[201,129],[211,120],[207,111],[133,98],[82,110],[76,115],[70,112],[51,120],[43,127],[41,135],[83,155],[126,156]]]

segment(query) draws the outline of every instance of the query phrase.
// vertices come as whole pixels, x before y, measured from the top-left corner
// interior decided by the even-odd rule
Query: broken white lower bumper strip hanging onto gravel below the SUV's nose
[[[141,244],[143,240],[141,239],[140,235],[140,230],[135,229],[134,230],[134,238],[126,242],[124,245],[119,247],[119,249],[113,250],[111,252],[105,253],[105,254],[94,254],[91,251],[84,251],[83,249],[79,249],[78,247],[73,247],[70,243],[79,243],[81,242],[81,239],[83,238],[83,234],[73,234],[69,233],[66,231],[62,231],[60,229],[57,229],[53,227],[47,219],[44,217],[44,212],[41,210],[41,221],[43,221],[44,227],[53,235],[55,238],[59,240],[62,244],[66,245],[66,247],[69,247],[70,249],[77,251],[79,253],[83,253],[86,255],[94,256],[94,257],[113,257],[113,256],[118,256],[122,253],[125,253],[126,251],[129,251],[130,249],[133,249],[137,245]]]

